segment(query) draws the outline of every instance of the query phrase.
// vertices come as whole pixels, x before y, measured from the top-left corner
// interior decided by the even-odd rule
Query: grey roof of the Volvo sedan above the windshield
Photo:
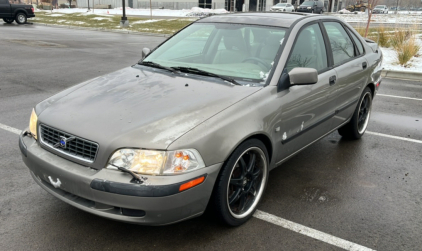
[[[278,26],[289,28],[295,21],[306,17],[315,17],[316,14],[306,13],[274,13],[274,12],[249,12],[239,14],[221,14],[202,18],[198,23],[233,23],[256,24],[265,26]]]

